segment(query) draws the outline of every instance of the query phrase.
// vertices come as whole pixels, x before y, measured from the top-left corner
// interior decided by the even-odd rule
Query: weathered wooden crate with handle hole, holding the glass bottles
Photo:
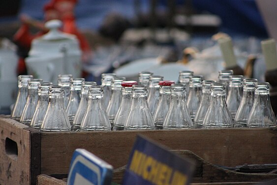
[[[67,174],[73,151],[85,148],[119,168],[137,134],[187,149],[213,164],[277,163],[277,129],[190,129],[116,132],[39,132],[0,118],[0,184],[34,185],[39,174]]]

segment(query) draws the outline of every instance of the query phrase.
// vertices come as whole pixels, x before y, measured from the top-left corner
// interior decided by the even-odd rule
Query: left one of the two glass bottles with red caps
[[[124,124],[132,103],[132,86],[137,85],[136,81],[123,81],[122,86],[122,101],[119,110],[114,119],[113,130],[124,130]]]

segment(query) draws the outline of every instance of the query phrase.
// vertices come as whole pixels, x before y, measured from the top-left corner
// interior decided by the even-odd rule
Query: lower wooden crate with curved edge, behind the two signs
[[[192,178],[192,185],[247,185],[261,181],[270,181],[277,179],[277,174],[255,174],[239,173],[215,166],[189,150],[175,150],[181,156],[191,159],[195,163],[195,171]],[[115,169],[113,173],[113,183],[122,184],[125,167]],[[39,175],[37,185],[66,185],[66,179],[50,177],[48,175]]]

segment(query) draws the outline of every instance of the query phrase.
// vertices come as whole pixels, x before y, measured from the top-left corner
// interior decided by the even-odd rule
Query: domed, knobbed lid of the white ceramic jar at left
[[[49,57],[61,55],[67,52],[70,55],[81,55],[78,39],[71,34],[63,33],[59,30],[62,21],[51,20],[45,23],[45,27],[50,31],[32,40],[29,56]]]

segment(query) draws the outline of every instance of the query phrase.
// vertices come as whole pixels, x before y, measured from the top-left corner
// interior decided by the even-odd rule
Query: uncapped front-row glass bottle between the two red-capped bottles
[[[132,103],[124,130],[154,129],[154,121],[147,103],[147,86],[132,86]]]

